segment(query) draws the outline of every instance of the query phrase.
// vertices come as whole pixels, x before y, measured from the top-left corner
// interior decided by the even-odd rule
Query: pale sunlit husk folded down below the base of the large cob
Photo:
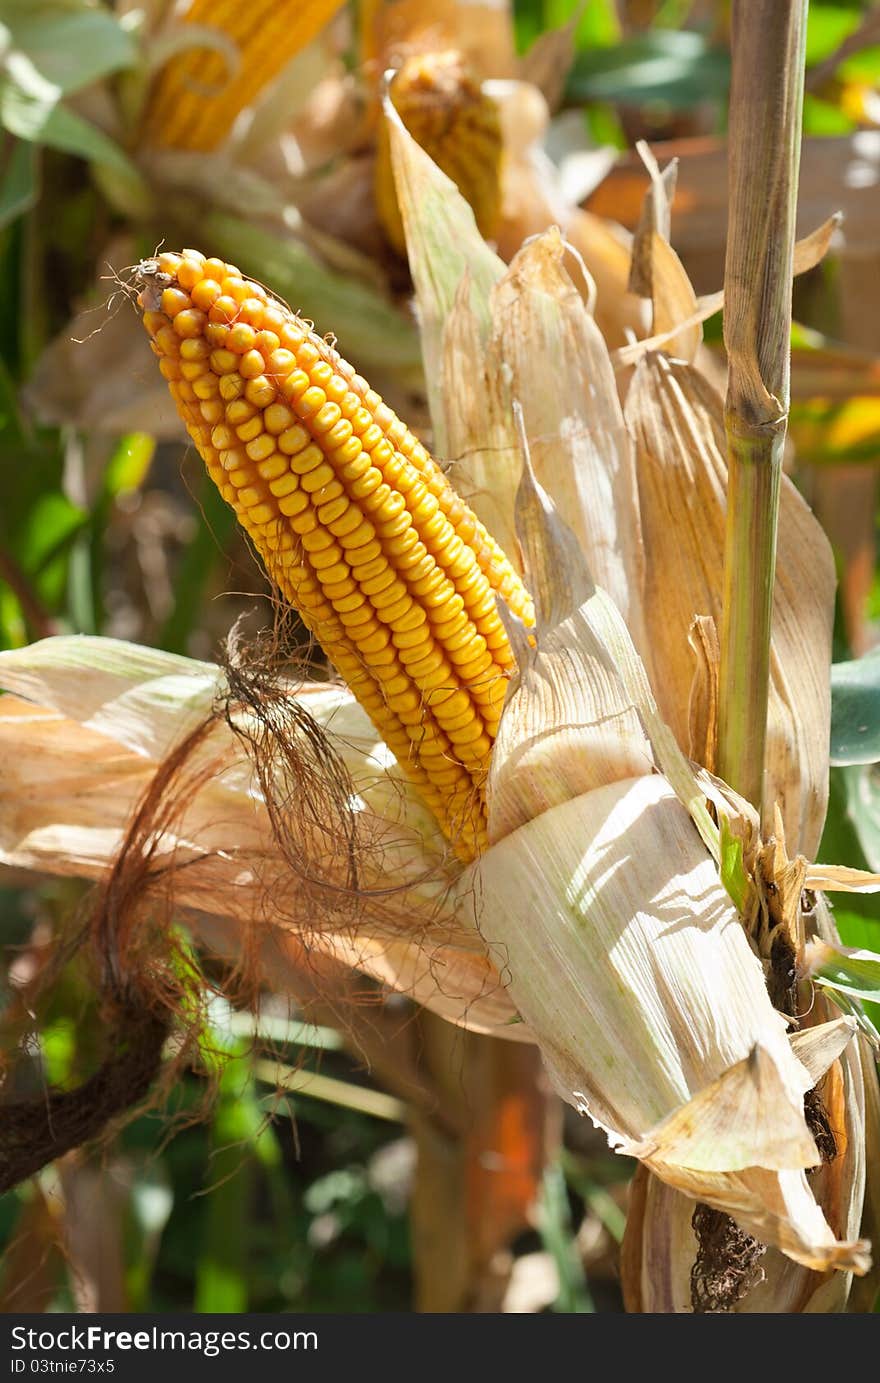
[[[803,1109],[812,1079],[663,777],[544,812],[459,896],[476,900],[555,1088],[614,1147],[800,1263],[865,1271],[865,1245],[836,1241],[804,1176],[819,1162]]]

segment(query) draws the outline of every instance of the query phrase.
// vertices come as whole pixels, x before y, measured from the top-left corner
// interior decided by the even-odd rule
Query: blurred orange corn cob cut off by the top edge
[[[237,115],[340,8],[342,0],[192,0],[185,24],[219,29],[238,50],[238,66],[216,48],[194,46],[159,72],[143,124],[147,144],[209,151]]]

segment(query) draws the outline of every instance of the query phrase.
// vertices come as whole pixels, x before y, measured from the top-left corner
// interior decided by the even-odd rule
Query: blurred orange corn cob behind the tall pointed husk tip
[[[501,214],[501,118],[461,54],[408,58],[392,80],[390,97],[412,138],[470,203],[480,234],[494,235]],[[375,194],[385,234],[397,253],[405,254],[385,120],[379,124]]]

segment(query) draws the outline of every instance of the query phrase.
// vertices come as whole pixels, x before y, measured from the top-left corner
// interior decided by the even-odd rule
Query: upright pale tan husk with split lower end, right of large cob
[[[458,488],[505,550],[517,552],[522,455],[513,402],[522,402],[535,476],[642,647],[643,553],[632,441],[607,347],[567,266],[577,268],[552,228],[523,246],[476,306],[476,285],[462,288],[443,337],[446,433],[461,458]]]

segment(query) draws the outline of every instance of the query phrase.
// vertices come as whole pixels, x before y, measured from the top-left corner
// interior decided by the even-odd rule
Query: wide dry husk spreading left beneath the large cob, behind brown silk
[[[230,694],[213,664],[89,638],[0,654],[0,686],[18,693],[0,700],[0,863],[91,880],[108,875],[162,762]],[[231,920],[242,939],[292,932],[452,1022],[527,1040],[480,939],[451,910],[457,866],[436,823],[361,708],[329,685],[291,682],[291,697],[351,776],[357,896],[345,841],[329,848],[345,805],[328,798],[317,830],[297,823],[297,874],[223,716],[187,761],[192,791],[178,812],[167,804],[158,827],[156,859],[173,866],[165,884],[156,878],[158,896],[167,888],[173,906]],[[232,721],[256,730],[246,711]],[[306,768],[314,743],[303,747]]]

